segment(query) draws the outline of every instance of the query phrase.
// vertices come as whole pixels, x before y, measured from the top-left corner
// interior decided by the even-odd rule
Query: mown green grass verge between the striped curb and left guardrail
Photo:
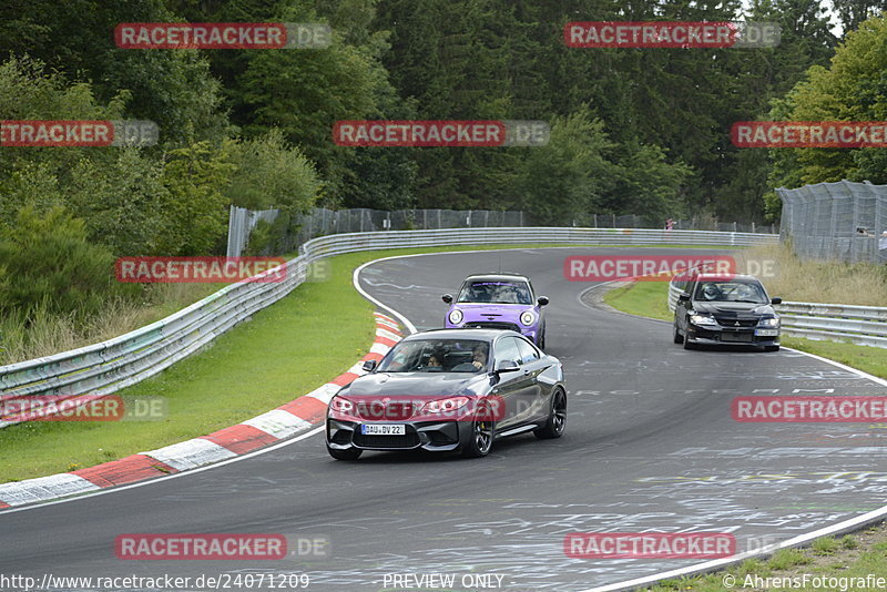
[[[557,245],[401,248],[332,257],[328,280],[303,284],[204,351],[120,391],[123,397],[165,398],[169,415],[162,421],[29,422],[0,429],[0,482],[92,467],[204,436],[335,378],[373,341],[373,305],[351,286],[351,273],[363,263],[414,253],[548,246]]]

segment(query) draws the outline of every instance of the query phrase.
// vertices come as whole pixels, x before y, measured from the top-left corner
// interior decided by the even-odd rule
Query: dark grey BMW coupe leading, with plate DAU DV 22
[[[493,440],[567,422],[561,363],[514,331],[439,329],[410,335],[329,401],[326,446],[339,460],[364,450],[489,453]]]

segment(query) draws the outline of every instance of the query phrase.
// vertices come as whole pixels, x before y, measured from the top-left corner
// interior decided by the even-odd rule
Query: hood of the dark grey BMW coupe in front
[[[487,372],[371,372],[355,379],[341,391],[346,397],[438,397],[477,394],[489,387]]]

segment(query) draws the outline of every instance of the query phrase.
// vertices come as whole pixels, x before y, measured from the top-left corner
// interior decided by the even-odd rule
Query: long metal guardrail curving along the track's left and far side
[[[74,407],[149,378],[210,344],[253,313],[279,300],[324,257],[379,248],[496,243],[687,245],[741,247],[774,244],[776,235],[640,228],[448,228],[336,234],[305,243],[283,282],[249,282],[215,294],[126,335],[101,344],[0,367],[0,399],[50,395]],[[28,417],[0,417],[0,428]]]

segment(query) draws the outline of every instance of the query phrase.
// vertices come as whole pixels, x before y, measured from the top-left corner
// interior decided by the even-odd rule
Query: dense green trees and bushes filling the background
[[[64,228],[55,243],[83,264],[58,273],[90,302],[109,256],[220,253],[231,204],[284,221],[315,205],[762,221],[774,183],[884,181],[877,151],[740,150],[728,133],[768,116],[884,119],[883,3],[834,1],[843,29],[859,28],[835,54],[816,0],[0,0],[0,119],[161,129],[144,149],[0,149],[12,298],[0,307],[33,296],[10,271],[37,253],[20,227],[44,232],[40,216]],[[562,37],[575,20],[741,19],[777,22],[781,44],[591,50]],[[334,35],[312,50],[114,45],[118,23],[150,21],[324,22]],[[343,119],[543,120],[552,133],[544,147],[343,147]]]

